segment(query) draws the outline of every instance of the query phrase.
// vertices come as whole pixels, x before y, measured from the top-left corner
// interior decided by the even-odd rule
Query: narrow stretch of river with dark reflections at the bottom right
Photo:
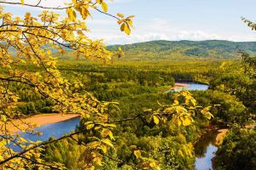
[[[212,170],[212,158],[218,147],[215,144],[217,132],[207,133],[195,144],[195,170]]]

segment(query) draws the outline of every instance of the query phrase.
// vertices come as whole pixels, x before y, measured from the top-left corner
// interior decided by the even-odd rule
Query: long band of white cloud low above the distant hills
[[[132,31],[131,36],[126,36],[125,33],[120,32],[115,27],[117,25],[110,24],[108,21],[95,21],[96,25],[104,26],[106,29],[99,28],[96,25],[92,25],[95,29],[91,29],[89,36],[98,39],[104,38],[105,42],[109,44],[126,44],[134,42],[147,42],[153,40],[229,40],[229,41],[255,41],[253,36],[243,35],[230,35],[230,34],[218,34],[215,32],[204,30],[187,30],[172,25],[172,23],[163,19],[152,19],[148,23],[139,23],[136,26],[136,30]],[[107,25],[104,25],[107,24]],[[152,24],[153,23],[153,24]],[[101,25],[102,24],[102,25]],[[114,27],[115,26],[115,27]]]

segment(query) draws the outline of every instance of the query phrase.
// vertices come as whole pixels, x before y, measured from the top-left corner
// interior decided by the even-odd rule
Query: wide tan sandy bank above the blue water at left
[[[29,118],[25,119],[17,119],[14,120],[12,124],[7,125],[7,129],[11,133],[15,133],[20,131],[19,128],[27,129],[31,127],[41,127],[43,125],[52,124],[56,122],[63,122],[67,121],[69,119],[78,117],[78,114],[47,114],[47,115],[37,115],[37,116],[31,116]],[[19,127],[15,127],[15,125],[18,125]]]

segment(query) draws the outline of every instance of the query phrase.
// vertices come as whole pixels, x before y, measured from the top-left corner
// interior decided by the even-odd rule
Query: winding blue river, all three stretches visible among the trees
[[[182,86],[180,86],[182,84]],[[208,86],[205,84],[194,82],[177,82],[177,88],[168,90],[169,92],[176,92],[182,89],[188,90],[207,90]],[[184,86],[183,86],[184,85]],[[70,133],[75,130],[79,125],[79,117],[64,121],[56,122],[53,124],[37,127],[36,130],[44,133],[42,136],[20,133],[23,138],[30,139],[32,141],[45,141],[50,137],[60,138],[63,134]],[[215,133],[210,133],[206,137],[202,138],[197,144],[195,144],[195,169],[196,170],[210,170],[212,169],[212,158],[214,153],[218,150],[218,147],[214,145]]]

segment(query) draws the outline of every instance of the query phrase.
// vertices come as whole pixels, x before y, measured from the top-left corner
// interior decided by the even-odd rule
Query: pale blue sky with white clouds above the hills
[[[67,0],[65,0],[67,2]],[[43,0],[44,5],[60,6],[63,0]],[[119,31],[116,20],[96,11],[87,20],[89,37],[104,39],[109,44],[126,44],[153,40],[228,40],[256,41],[256,31],[251,31],[241,17],[256,20],[256,0],[106,0],[108,13],[136,15],[135,29],[130,36]],[[15,0],[13,1],[15,2]],[[18,1],[19,2],[19,1]],[[25,0],[25,3],[35,0]],[[7,6],[6,11],[16,15],[38,9]],[[65,12],[61,13],[66,15]]]

